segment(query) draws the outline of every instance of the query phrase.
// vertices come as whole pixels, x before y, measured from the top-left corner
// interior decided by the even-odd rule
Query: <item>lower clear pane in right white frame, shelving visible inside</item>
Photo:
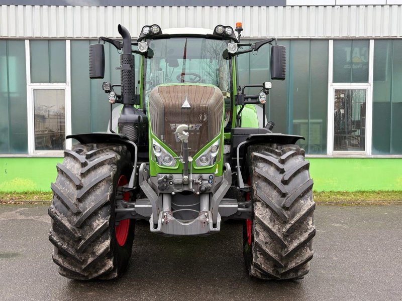
[[[366,90],[335,90],[334,151],[365,150]]]

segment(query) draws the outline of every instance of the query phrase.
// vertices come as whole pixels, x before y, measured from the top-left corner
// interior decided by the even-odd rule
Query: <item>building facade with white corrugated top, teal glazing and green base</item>
[[[306,137],[314,189],[402,190],[402,1],[52,3],[0,6],[0,191],[50,190],[65,135],[106,130],[104,80],[88,77],[98,36],[119,38],[118,24],[135,37],[146,24],[236,22],[242,41],[286,46],[287,78],[272,82],[266,115],[275,131]],[[105,81],[119,83],[119,55],[105,46]],[[269,47],[238,65],[240,85],[269,80]]]

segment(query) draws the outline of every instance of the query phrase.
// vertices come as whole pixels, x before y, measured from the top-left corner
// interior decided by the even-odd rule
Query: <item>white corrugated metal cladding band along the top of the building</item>
[[[138,36],[143,25],[202,27],[242,22],[244,37],[401,37],[402,6],[63,7],[0,6],[0,38]]]

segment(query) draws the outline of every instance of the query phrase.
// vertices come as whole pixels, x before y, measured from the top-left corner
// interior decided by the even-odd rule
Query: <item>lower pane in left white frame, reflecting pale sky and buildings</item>
[[[34,90],[35,150],[65,148],[65,90]]]

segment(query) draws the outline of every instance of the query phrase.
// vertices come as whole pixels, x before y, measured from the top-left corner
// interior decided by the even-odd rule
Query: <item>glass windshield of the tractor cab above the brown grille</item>
[[[229,61],[223,58],[227,41],[203,38],[149,40],[145,100],[156,86],[170,83],[212,84],[230,90]]]

